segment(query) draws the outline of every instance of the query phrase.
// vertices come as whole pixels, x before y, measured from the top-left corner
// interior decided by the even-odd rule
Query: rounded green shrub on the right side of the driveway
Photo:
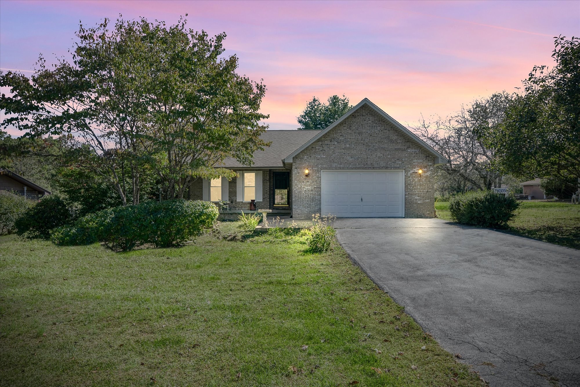
[[[520,203],[513,196],[492,191],[473,191],[456,195],[449,202],[451,217],[466,225],[507,228]]]

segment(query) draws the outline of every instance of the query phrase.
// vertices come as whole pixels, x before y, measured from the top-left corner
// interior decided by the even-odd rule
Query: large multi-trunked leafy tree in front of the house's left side
[[[139,203],[148,166],[166,197],[181,198],[191,177],[231,177],[219,167],[226,157],[248,164],[267,145],[258,112],[266,87],[235,72],[237,57],[221,57],[225,36],[184,20],[81,24],[70,61],[48,68],[41,57],[31,78],[0,73],[10,87],[2,125],[28,137],[70,134],[74,165],[106,178],[123,205]]]

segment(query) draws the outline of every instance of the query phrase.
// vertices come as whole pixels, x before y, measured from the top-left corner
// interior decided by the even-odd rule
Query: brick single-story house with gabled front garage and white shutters
[[[434,216],[434,167],[442,155],[367,98],[324,130],[268,130],[252,166],[226,159],[238,178],[198,178],[189,199],[229,202],[227,214],[257,209],[310,218]]]

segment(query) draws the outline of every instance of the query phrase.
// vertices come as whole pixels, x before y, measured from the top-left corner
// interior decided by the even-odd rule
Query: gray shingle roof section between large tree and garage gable
[[[282,159],[320,132],[320,130],[266,130],[260,138],[266,142],[271,141],[272,144],[263,151],[254,152],[254,163],[251,167],[283,168]],[[224,163],[226,168],[250,167],[241,165],[233,158],[227,158]]]

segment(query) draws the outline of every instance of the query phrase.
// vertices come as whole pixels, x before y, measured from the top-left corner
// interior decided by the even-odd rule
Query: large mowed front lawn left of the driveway
[[[0,237],[0,385],[481,385],[340,246],[278,237],[131,253]]]

